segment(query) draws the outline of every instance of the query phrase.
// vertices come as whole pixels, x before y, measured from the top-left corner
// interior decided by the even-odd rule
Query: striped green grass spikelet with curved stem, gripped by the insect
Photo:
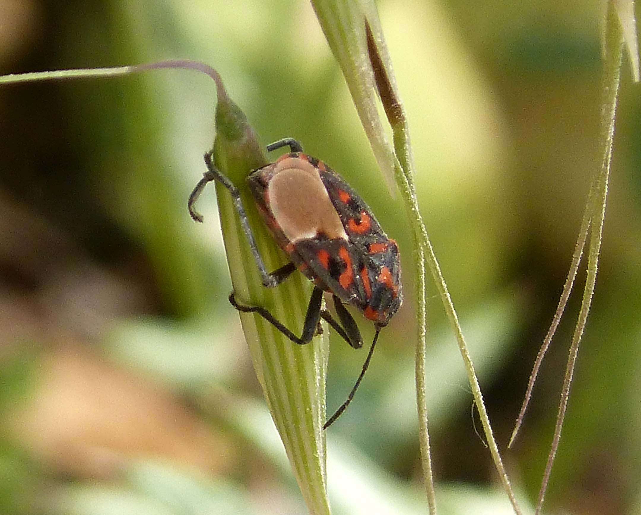
[[[191,69],[210,76],[217,86],[214,157],[217,167],[242,192],[244,206],[265,265],[275,270],[284,265],[285,254],[267,233],[245,179],[254,168],[268,163],[245,115],[229,99],[218,73],[196,61],[160,61],[145,65],[113,68],[54,70],[0,77],[0,85],[79,78],[111,78],[153,69]],[[217,197],[231,281],[238,300],[267,307],[294,332],[302,331],[304,314],[312,291],[310,281],[294,274],[274,289],[263,288],[258,268],[240,227],[231,196],[217,184]],[[221,291],[221,295],[227,295]],[[325,378],[328,359],[328,331],[299,346],[285,338],[271,324],[255,315],[241,314],[256,375],[272,418],[292,464],[310,513],[329,514],[326,479],[326,440],[322,425],[325,413]]]

